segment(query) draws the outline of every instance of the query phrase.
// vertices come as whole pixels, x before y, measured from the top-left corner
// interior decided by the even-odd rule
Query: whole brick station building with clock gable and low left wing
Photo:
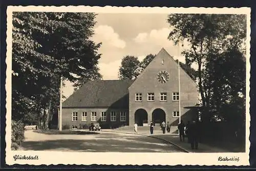
[[[161,49],[135,80],[86,82],[62,103],[62,127],[92,122],[102,128],[148,126],[151,121],[156,126],[162,121],[177,126],[180,119],[195,118],[196,112],[185,107],[198,102],[196,82],[180,67],[179,91],[178,63]]]

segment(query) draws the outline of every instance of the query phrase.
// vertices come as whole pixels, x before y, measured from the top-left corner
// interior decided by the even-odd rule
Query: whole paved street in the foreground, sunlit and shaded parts
[[[120,133],[46,135],[25,131],[24,150],[68,152],[182,152],[163,140]]]

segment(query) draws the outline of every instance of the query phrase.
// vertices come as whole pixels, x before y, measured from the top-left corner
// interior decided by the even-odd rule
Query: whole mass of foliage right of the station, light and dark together
[[[186,65],[198,65],[198,86],[205,115],[210,110],[223,113],[235,103],[243,112],[233,115],[243,115],[244,103],[238,101],[245,100],[241,100],[245,98],[245,15],[169,14],[167,22],[174,28],[168,39],[175,44],[189,42],[189,48],[182,54]],[[227,114],[222,118],[227,119]]]

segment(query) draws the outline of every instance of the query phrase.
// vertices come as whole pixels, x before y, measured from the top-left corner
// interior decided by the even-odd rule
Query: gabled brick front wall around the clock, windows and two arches
[[[178,63],[162,49],[144,72],[133,82],[129,88],[130,126],[135,122],[135,112],[138,109],[144,109],[147,112],[148,124],[150,124],[153,111],[156,109],[163,110],[166,122],[169,121],[172,125],[179,123],[179,117],[173,117],[173,111],[179,111],[179,101],[173,100],[173,93],[179,92],[178,69]],[[160,71],[168,72],[169,80],[167,82],[160,83],[157,80],[157,74]],[[142,93],[141,102],[135,101],[136,93]],[[147,101],[147,93],[154,93],[155,100]],[[160,101],[160,93],[167,93],[166,101]],[[184,121],[190,120],[194,116],[189,113],[194,112],[184,109],[184,107],[194,106],[198,102],[197,85],[182,68],[180,68],[180,100],[181,119]]]

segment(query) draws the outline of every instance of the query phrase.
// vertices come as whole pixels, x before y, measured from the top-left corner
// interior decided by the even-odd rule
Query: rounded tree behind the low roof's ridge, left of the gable
[[[139,76],[139,71],[136,69],[139,67],[140,61],[138,57],[125,56],[122,59],[121,67],[119,68],[119,79],[135,79]]]

